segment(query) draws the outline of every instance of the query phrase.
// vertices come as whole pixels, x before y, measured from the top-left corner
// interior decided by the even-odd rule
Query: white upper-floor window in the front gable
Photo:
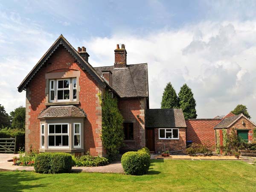
[[[49,102],[76,101],[76,78],[49,80]]]

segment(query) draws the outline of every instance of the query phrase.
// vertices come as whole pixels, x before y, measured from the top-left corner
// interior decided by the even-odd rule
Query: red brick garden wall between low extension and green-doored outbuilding
[[[215,145],[214,127],[221,119],[188,119],[187,140],[192,143]]]

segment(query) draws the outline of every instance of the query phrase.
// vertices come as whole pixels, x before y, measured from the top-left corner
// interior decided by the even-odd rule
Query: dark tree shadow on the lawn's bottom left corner
[[[33,191],[33,189],[37,187],[44,187],[47,184],[22,184],[22,182],[29,182],[40,180],[42,177],[33,177],[30,176],[27,172],[0,172],[0,183],[1,188],[0,191],[8,191],[8,192],[21,192],[24,189],[29,189]],[[40,183],[40,182],[38,182]]]

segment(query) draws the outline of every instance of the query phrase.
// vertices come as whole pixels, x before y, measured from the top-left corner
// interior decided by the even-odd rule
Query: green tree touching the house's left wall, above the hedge
[[[26,108],[20,106],[10,113],[12,119],[12,128],[25,130]]]

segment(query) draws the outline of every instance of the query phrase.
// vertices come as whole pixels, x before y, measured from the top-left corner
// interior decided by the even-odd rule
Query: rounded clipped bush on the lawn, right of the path
[[[150,156],[144,151],[129,151],[122,155],[121,163],[125,174],[144,175],[148,172]]]

